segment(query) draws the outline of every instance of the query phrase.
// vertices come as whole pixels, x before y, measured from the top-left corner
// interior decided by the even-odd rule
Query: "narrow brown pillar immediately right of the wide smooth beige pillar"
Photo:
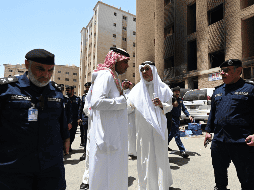
[[[155,0],[155,65],[164,76],[164,0]]]

